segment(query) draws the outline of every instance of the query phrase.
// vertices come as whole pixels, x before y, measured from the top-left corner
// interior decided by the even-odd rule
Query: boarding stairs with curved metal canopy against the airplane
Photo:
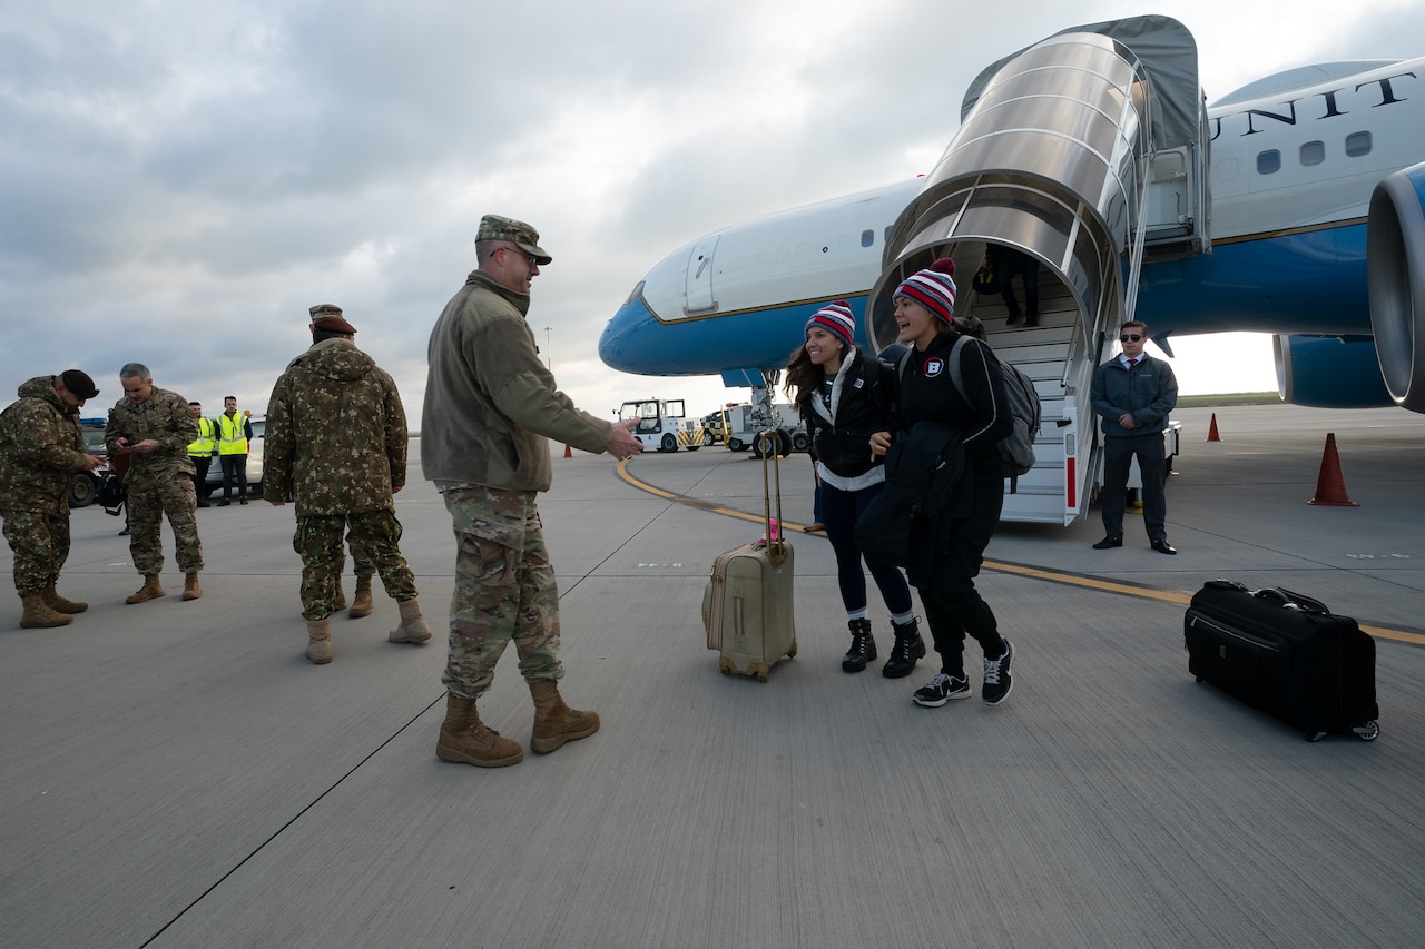
[[[1191,34],[1167,17],[1094,26],[1052,36],[976,80],[960,130],[891,228],[866,304],[868,338],[879,349],[896,338],[896,285],[949,256],[962,285],[958,309],[976,296],[969,305],[990,345],[1035,380],[1043,403],[1037,462],[1006,496],[1003,520],[1069,524],[1087,513],[1099,467],[1089,386],[1107,332],[1133,312],[1144,245],[1151,235],[1171,245],[1161,254],[1206,247],[1206,108]],[[1171,50],[1171,68],[1150,70],[1110,27],[1154,53]],[[1154,74],[1174,98],[1170,108]],[[1173,171],[1154,171],[1161,158]],[[1150,197],[1163,185],[1181,194]],[[1171,208],[1170,227],[1157,219],[1163,208]],[[999,298],[970,291],[990,244],[1039,262],[1037,325],[1010,328]]]

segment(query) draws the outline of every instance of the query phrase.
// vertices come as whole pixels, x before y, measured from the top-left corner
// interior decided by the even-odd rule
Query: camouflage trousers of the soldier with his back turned
[[[400,522],[393,510],[363,510],[349,514],[302,514],[296,519],[292,550],[302,559],[302,618],[321,620],[336,613],[346,550],[342,530],[351,527],[346,543],[356,560],[356,576],[380,574],[392,600],[416,597],[416,576],[400,556]],[[358,554],[358,551],[361,551]]]

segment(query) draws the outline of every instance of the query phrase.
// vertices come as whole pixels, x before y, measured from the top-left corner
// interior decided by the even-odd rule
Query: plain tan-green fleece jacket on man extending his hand
[[[420,413],[428,480],[544,492],[554,477],[549,439],[608,447],[613,423],[554,388],[524,322],[529,305],[527,294],[475,271],[436,321]]]

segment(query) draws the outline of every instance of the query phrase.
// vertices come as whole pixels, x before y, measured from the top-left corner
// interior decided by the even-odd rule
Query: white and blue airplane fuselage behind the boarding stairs
[[[1425,160],[1425,58],[1280,74],[1210,108],[1208,128],[1211,252],[1147,264],[1136,316],[1160,341],[1221,331],[1369,338],[1367,217],[1382,178]],[[919,187],[781,211],[673,251],[608,322],[600,356],[644,375],[784,366],[824,302],[862,313],[888,227]],[[1375,373],[1361,385],[1384,392]]]

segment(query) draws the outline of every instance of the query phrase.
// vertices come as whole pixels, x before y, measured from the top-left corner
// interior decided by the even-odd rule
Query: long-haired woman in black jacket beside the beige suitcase
[[[812,313],[807,321],[807,342],[792,353],[787,368],[784,390],[801,410],[821,477],[821,520],[836,554],[836,581],[851,627],[851,648],[841,668],[859,673],[876,658],[866,576],[861,569],[865,560],[891,610],[895,634],[895,647],[881,674],[901,678],[925,655],[911,587],[895,564],[864,556],[855,539],[856,519],[885,482],[881,459],[871,456],[871,435],[892,423],[893,372],[856,349],[851,342],[855,331],[856,319],[845,301]]]

